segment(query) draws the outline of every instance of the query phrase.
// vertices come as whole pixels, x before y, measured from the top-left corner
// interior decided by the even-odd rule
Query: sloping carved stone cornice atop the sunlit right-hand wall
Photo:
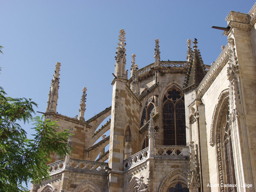
[[[223,69],[224,65],[228,62],[229,51],[228,46],[222,50],[221,54],[216,59],[215,63],[209,69],[208,73],[197,87],[197,99],[201,99],[204,93],[208,90],[212,82],[216,79],[218,74]]]

